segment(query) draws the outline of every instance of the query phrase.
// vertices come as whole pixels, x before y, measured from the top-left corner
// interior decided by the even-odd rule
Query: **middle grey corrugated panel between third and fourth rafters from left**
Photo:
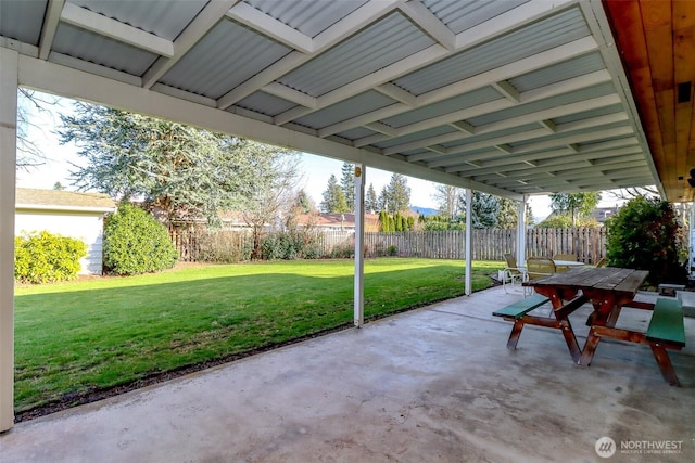
[[[413,23],[393,13],[283,76],[288,87],[320,97],[433,44]]]

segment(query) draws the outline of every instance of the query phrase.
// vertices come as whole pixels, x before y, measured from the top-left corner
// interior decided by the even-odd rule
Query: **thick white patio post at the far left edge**
[[[14,423],[14,188],[18,54],[0,48],[0,433]]]

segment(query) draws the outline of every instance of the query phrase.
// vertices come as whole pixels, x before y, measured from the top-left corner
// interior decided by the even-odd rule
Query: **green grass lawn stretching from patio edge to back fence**
[[[15,291],[15,409],[348,326],[351,260],[192,266]],[[475,262],[473,290],[502,262]],[[365,262],[365,318],[459,296],[464,262]]]

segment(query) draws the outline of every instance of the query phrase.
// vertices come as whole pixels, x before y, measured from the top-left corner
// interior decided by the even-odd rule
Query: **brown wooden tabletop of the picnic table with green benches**
[[[539,280],[525,282],[526,286],[565,287],[574,290],[601,290],[616,294],[633,295],[644,283],[647,270],[620,269],[615,267],[574,267]]]

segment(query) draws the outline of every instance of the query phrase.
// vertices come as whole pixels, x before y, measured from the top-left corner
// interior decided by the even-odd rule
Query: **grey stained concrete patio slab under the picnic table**
[[[578,366],[527,326],[507,350],[491,312],[520,297],[491,288],[18,423],[0,462],[593,462],[603,437],[610,461],[695,459],[694,319],[669,352],[677,388],[648,346],[602,342]],[[571,318],[580,345],[590,310]]]

